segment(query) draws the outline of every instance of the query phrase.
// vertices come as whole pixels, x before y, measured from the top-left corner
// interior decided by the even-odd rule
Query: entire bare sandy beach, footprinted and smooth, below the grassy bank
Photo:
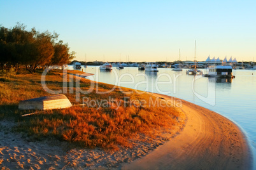
[[[171,97],[156,95],[162,100]],[[0,168],[8,169],[251,169],[245,136],[234,123],[206,108],[181,100],[181,124],[165,140],[134,139],[117,152],[69,148],[60,141],[28,142],[13,133],[14,122],[0,121]],[[164,135],[163,135],[164,134]],[[138,136],[138,138],[145,136]],[[148,143],[146,141],[149,141]],[[53,145],[54,143],[54,145]]]

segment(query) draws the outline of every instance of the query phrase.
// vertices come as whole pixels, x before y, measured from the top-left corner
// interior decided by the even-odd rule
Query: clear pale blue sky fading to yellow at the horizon
[[[0,25],[57,32],[79,61],[194,60],[196,41],[198,61],[245,62],[256,61],[255,9],[255,0],[0,0]]]

